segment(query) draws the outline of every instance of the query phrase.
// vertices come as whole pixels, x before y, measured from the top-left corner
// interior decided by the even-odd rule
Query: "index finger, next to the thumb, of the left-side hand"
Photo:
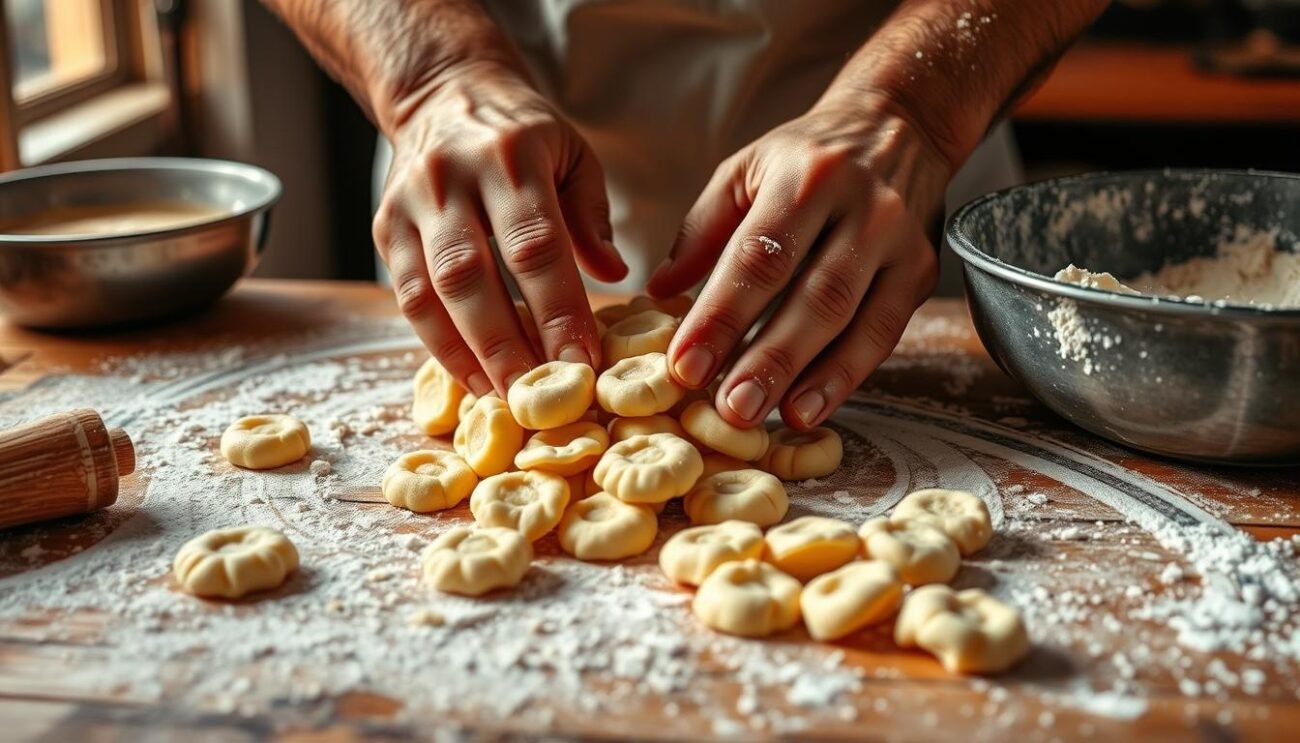
[[[551,169],[533,162],[521,173],[517,184],[504,179],[482,184],[497,247],[533,313],[546,357],[595,366],[601,360],[595,320],[573,264]]]

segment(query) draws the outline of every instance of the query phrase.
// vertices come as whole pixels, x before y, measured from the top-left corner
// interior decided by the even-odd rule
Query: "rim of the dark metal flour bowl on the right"
[[[984,251],[975,247],[974,240],[962,229],[962,222],[965,218],[979,209],[988,201],[1004,197],[1013,191],[1019,191],[1020,188],[1028,188],[1032,186],[1041,186],[1044,183],[1071,183],[1080,181],[1097,181],[1101,178],[1143,178],[1153,175],[1186,175],[1186,177],[1206,177],[1206,175],[1232,175],[1232,177],[1264,177],[1265,179],[1283,179],[1283,181],[1300,181],[1300,174],[1284,173],[1280,170],[1254,170],[1254,169],[1231,169],[1231,168],[1147,168],[1136,170],[1093,170],[1088,173],[1076,173],[1072,175],[1061,175],[1057,178],[1044,178],[1040,181],[1032,181],[1028,183],[1020,183],[1011,186],[1009,188],[1001,188],[991,194],[985,194],[972,201],[968,201],[948,218],[948,226],[944,229],[944,236],[953,248],[953,252],[962,258],[968,266],[978,268],[985,273],[991,273],[998,278],[1006,279],[1014,284],[1030,287],[1037,291],[1043,291],[1052,295],[1065,296],[1074,300],[1083,300],[1092,304],[1110,305],[1122,309],[1135,309],[1141,312],[1156,312],[1162,314],[1178,314],[1178,316],[1201,316],[1201,317],[1238,317],[1238,318],[1297,318],[1300,320],[1300,308],[1271,308],[1266,309],[1262,307],[1254,307],[1248,304],[1214,304],[1214,303],[1200,303],[1200,301],[1187,301],[1186,299],[1173,297],[1173,296],[1153,296],[1153,295],[1131,295],[1121,294],[1117,291],[1104,290],[1104,288],[1091,288],[1078,284],[1070,284],[1065,282],[1058,282],[1050,277],[1014,266],[993,256],[985,253]]]

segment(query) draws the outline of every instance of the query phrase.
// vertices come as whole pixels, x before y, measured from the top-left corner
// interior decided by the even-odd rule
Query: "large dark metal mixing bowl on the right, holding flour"
[[[1097,173],[984,196],[948,223],[984,346],[1045,405],[1130,447],[1209,462],[1300,464],[1300,309],[1083,288],[1213,256],[1240,227],[1300,244],[1300,177]],[[1053,314],[1054,313],[1054,314]],[[1053,317],[1057,322],[1053,322]],[[1082,322],[1062,355],[1058,326]],[[1069,334],[1066,334],[1070,336]]]

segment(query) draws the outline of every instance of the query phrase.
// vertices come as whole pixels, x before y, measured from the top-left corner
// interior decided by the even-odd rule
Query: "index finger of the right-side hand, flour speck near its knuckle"
[[[670,368],[681,384],[698,390],[714,379],[816,242],[827,209],[816,201],[796,204],[792,194],[780,184],[759,194],[723,251],[668,348]],[[732,395],[742,418],[764,405],[763,391],[753,384],[741,384]]]

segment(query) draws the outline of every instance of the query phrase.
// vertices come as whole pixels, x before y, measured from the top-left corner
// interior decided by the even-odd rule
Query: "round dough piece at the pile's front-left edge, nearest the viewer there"
[[[533,546],[514,529],[458,526],[424,551],[424,578],[445,594],[481,596],[517,586],[533,561]]]

